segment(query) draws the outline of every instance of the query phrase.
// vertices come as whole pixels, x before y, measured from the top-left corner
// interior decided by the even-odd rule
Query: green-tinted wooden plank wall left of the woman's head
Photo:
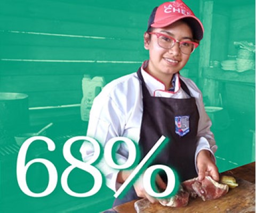
[[[29,95],[31,124],[79,119],[83,75],[109,82],[137,71],[148,58],[149,14],[161,3],[2,0],[0,91]]]

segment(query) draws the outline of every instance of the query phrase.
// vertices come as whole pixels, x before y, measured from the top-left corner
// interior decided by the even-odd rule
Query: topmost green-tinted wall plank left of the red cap
[[[13,7],[14,3],[15,7]],[[130,11],[117,10],[117,8],[115,10],[109,9],[106,13],[106,9],[101,8],[100,5],[87,6],[84,4],[77,6],[54,1],[14,1],[10,3],[7,0],[2,1],[1,4],[0,13],[2,14],[33,19],[51,17],[54,20],[72,20],[84,23],[91,23],[93,20],[94,24],[130,25],[133,27],[145,25],[148,19],[148,16],[143,16],[140,13],[134,13],[134,15]],[[73,13],[73,11],[76,12]],[[72,15],[68,15],[70,12]],[[113,21],[109,22],[109,20]]]

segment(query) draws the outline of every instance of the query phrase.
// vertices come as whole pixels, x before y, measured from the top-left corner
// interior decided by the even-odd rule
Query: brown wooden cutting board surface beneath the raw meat
[[[186,207],[164,207],[159,203],[152,204],[146,200],[131,201],[115,207],[118,213],[249,213],[255,212],[255,184],[237,178],[239,186],[217,200],[203,201],[201,198],[190,199]],[[134,203],[140,206],[139,211]]]

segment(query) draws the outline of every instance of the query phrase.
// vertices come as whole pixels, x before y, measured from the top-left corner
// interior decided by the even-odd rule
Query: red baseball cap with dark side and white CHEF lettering
[[[148,20],[148,29],[163,28],[178,20],[184,20],[193,31],[196,40],[201,40],[204,34],[202,22],[182,0],[165,2],[155,7]]]

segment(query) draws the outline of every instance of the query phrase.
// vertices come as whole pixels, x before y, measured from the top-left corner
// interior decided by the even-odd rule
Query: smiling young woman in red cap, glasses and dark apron
[[[203,25],[181,0],[166,2],[154,8],[144,34],[144,46],[149,59],[135,73],[116,79],[103,88],[90,113],[87,135],[105,144],[109,139],[123,136],[138,142],[142,157],[162,136],[170,143],[156,159],[156,164],[170,166],[180,181],[206,175],[219,180],[214,152],[217,150],[210,131],[202,93],[190,79],[179,71],[203,38]],[[84,160],[90,157],[90,147],[81,147]],[[125,162],[129,150],[118,148],[119,162]],[[131,171],[116,171],[103,162],[100,165],[107,185],[116,191]],[[157,184],[166,187],[166,177],[158,175]],[[137,181],[123,199],[114,206],[133,199],[148,198],[155,202]]]

